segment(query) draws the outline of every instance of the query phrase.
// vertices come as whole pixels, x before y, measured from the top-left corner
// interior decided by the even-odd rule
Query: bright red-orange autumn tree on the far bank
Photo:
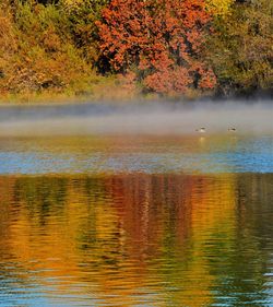
[[[212,88],[214,74],[200,60],[209,22],[203,0],[112,0],[97,22],[100,49],[115,71],[136,66],[156,92]]]

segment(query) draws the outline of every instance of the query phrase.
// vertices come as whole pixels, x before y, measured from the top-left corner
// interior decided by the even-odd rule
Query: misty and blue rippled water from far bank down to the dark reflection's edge
[[[273,173],[272,118],[271,102],[3,107],[0,174]]]

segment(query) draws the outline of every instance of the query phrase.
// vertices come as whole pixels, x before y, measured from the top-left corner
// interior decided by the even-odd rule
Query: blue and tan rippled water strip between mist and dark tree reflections
[[[0,174],[273,173],[273,134],[0,138]]]

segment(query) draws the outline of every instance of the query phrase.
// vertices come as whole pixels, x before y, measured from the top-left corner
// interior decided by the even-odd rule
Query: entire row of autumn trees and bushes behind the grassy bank
[[[109,76],[142,94],[272,94],[272,15],[271,0],[0,0],[0,94]]]

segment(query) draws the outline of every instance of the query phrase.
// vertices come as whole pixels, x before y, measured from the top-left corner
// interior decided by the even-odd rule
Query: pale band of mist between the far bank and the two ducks
[[[272,102],[2,107],[0,135],[273,133]]]

